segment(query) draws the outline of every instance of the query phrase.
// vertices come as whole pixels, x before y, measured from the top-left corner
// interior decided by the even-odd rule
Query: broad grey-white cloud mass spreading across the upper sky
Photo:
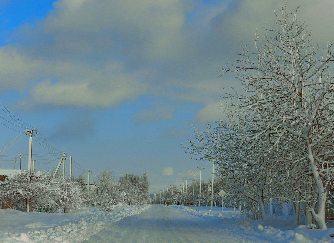
[[[30,87],[22,107],[108,107],[149,94],[205,104],[197,118],[213,119],[223,86],[239,85],[218,77],[216,67],[233,61],[238,44],[252,42],[256,28],[262,34],[266,22],[275,26],[274,10],[286,1],[231,2],[55,1],[45,19],[19,28],[15,47],[0,49],[1,87]],[[334,40],[328,31],[333,1],[296,0],[289,10],[297,4],[315,39]],[[136,116],[170,119],[173,111],[159,107]]]

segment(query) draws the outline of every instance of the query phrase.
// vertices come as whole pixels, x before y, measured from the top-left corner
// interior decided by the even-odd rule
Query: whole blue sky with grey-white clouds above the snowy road
[[[21,153],[26,169],[25,128],[37,128],[37,170],[66,152],[74,175],[146,171],[150,192],[179,186],[196,167],[208,179],[210,162],[191,161],[180,144],[193,125],[222,118],[223,88],[240,85],[219,68],[257,28],[262,38],[275,26],[285,2],[0,0],[1,168],[15,158],[19,168]],[[291,0],[288,10],[297,5],[313,39],[334,42],[334,2]]]

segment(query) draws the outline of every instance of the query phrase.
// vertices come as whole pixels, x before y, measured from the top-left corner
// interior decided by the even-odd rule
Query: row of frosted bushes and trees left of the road
[[[35,177],[27,172],[17,174],[9,180],[0,182],[1,208],[44,209],[64,213],[87,206],[101,206],[111,210],[115,204],[122,203],[121,192],[126,192],[125,202],[129,205],[145,204],[148,200],[148,181],[146,172],[142,177],[126,174],[119,182],[114,181],[112,171],[106,169],[98,173],[94,182],[96,190],[90,190],[83,176],[70,178],[54,177],[48,173]]]

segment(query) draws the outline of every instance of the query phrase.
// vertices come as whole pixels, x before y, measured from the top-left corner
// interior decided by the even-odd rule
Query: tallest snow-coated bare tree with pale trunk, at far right
[[[277,157],[281,157],[282,140],[296,145],[303,159],[282,159],[296,162],[297,166],[307,164],[305,174],[313,182],[309,184],[313,190],[309,190],[308,197],[316,204],[308,210],[319,228],[327,229],[327,186],[334,179],[334,84],[330,73],[334,53],[331,44],[323,49],[312,47],[311,33],[304,22],[297,20],[297,10],[288,13],[283,6],[281,13],[277,17],[278,28],[268,28],[262,45],[256,34],[254,47],[246,45],[236,64],[223,69],[237,73],[251,92],[234,92],[226,97],[237,98],[238,106],[260,114],[259,120],[266,126],[249,130],[247,137],[252,134],[254,140],[268,140],[274,136],[267,151],[276,150]]]

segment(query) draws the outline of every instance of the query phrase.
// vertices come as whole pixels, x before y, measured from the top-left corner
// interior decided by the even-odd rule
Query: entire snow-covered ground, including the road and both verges
[[[215,207],[145,205],[109,213],[91,207],[69,214],[1,209],[0,218],[1,243],[334,243],[334,228],[296,229],[291,220],[248,220]]]

